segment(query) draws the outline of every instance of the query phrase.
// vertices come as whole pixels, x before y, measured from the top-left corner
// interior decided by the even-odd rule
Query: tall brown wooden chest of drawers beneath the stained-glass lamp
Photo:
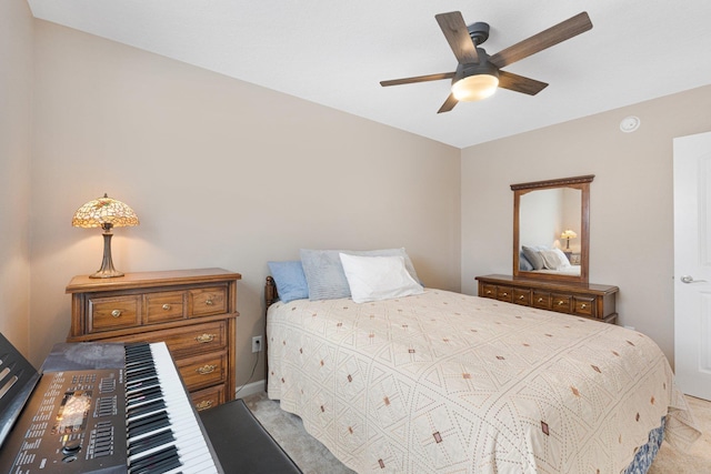
[[[237,282],[222,269],[74,276],[67,342],[164,341],[198,410],[234,399]]]

